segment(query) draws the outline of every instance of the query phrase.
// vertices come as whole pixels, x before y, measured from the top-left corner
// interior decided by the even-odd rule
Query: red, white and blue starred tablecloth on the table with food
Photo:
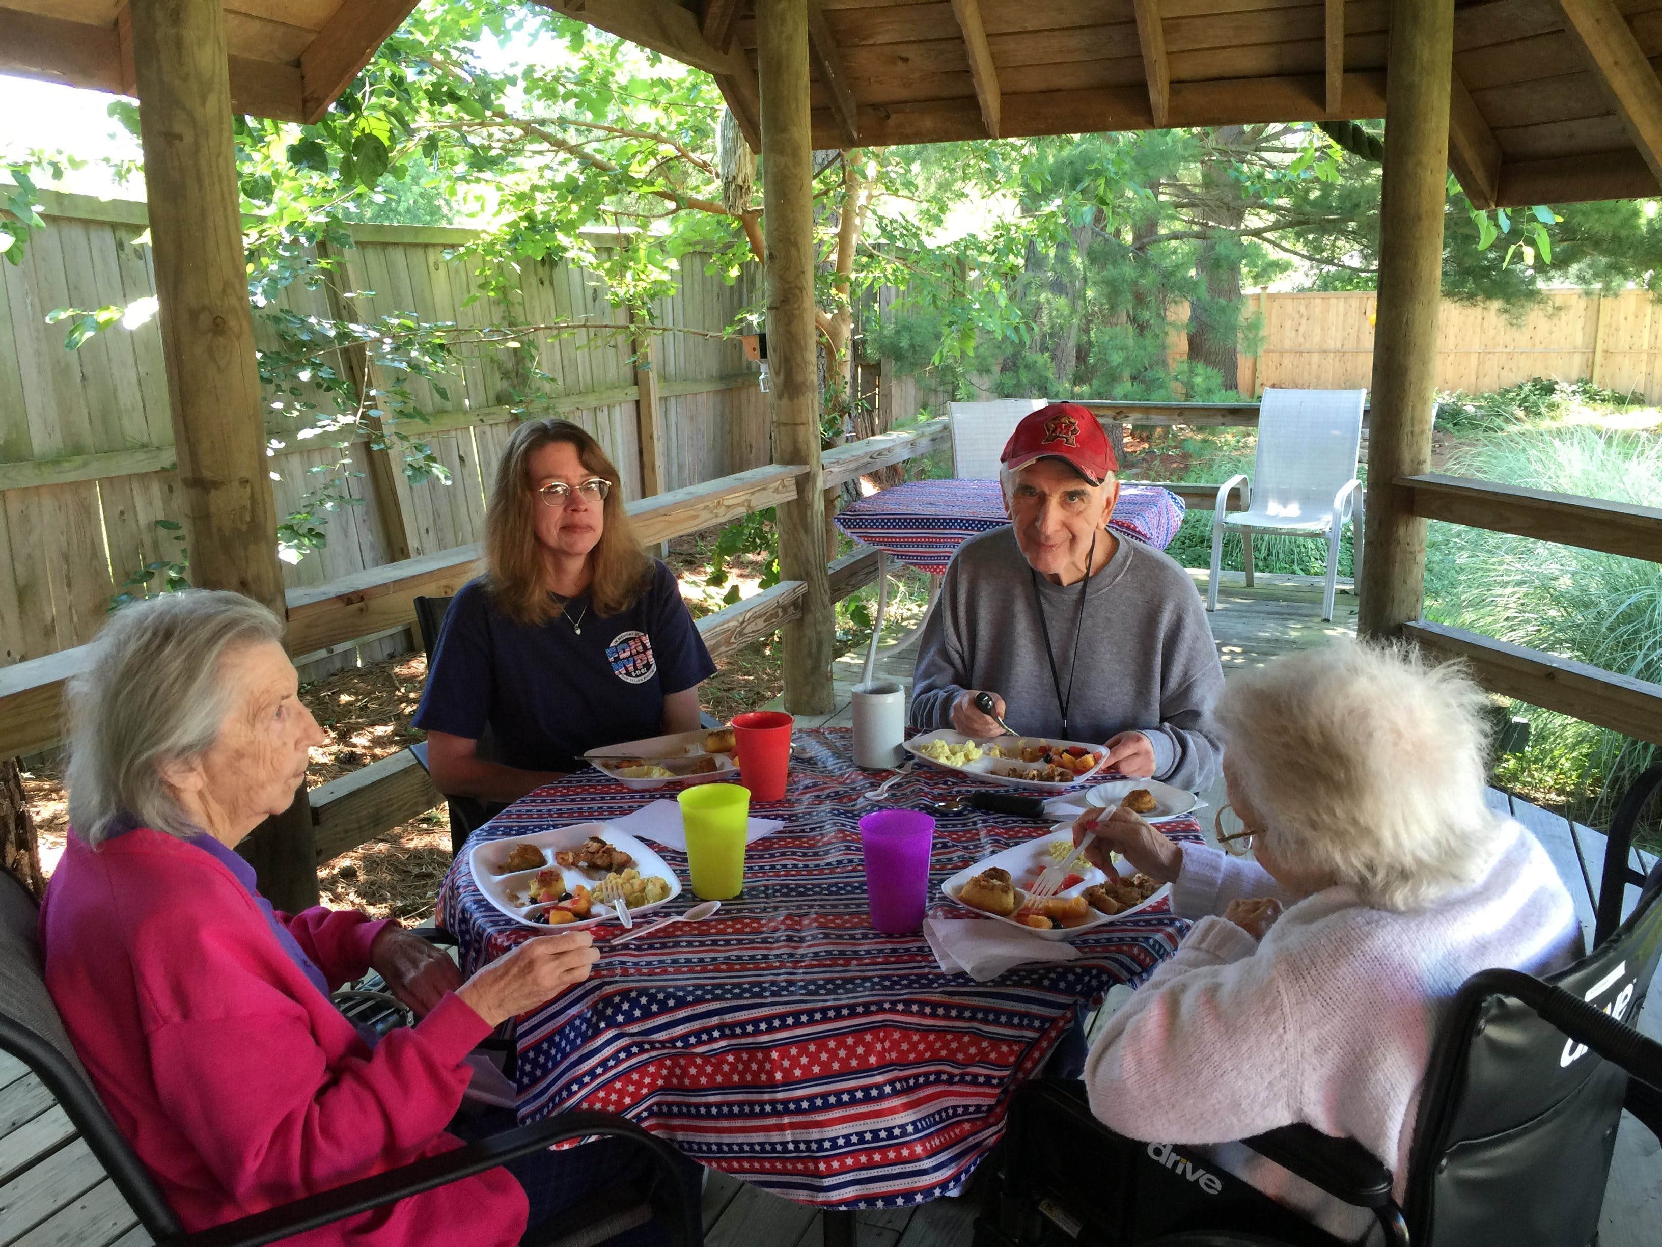
[[[798,733],[783,818],[750,846],[745,893],[703,923],[675,923],[603,951],[588,983],[520,1019],[520,1117],[622,1112],[695,1161],[803,1204],[921,1204],[957,1190],[997,1142],[1010,1092],[1075,1016],[1115,983],[1138,983],[1188,924],[1163,906],[1075,941],[1085,956],[992,983],[944,974],[922,936],[871,929],[846,728]],[[889,800],[972,786],[921,766]],[[665,790],[673,793],[673,790]],[[514,803],[475,836],[525,835],[625,815],[635,793],[582,771]],[[1167,823],[1198,840],[1192,820]],[[1045,828],[964,811],[936,820],[931,896],[951,873]],[[681,880],[686,856],[661,850]],[[530,928],[504,918],[457,858],[439,906],[472,973]],[[656,911],[685,909],[691,890]],[[937,916],[984,921],[937,903]],[[607,939],[617,928],[597,928]]]

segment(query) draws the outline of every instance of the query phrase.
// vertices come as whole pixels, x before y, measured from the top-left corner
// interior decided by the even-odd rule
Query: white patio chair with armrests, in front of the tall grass
[[[1266,389],[1258,407],[1258,457],[1253,479],[1238,474],[1218,487],[1212,512],[1212,575],[1207,610],[1218,609],[1218,570],[1223,534],[1242,535],[1242,569],[1251,587],[1251,537],[1273,532],[1286,537],[1326,537],[1328,584],[1321,619],[1333,619],[1333,592],[1340,575],[1340,534],[1353,519],[1356,540],[1355,580],[1361,584],[1363,494],[1356,479],[1361,446],[1361,389]],[[1242,485],[1246,510],[1225,514],[1230,490]]]

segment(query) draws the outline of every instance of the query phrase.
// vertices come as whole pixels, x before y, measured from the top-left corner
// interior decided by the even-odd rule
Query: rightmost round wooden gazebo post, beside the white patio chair
[[[1424,600],[1426,522],[1414,515],[1409,490],[1394,482],[1431,467],[1453,58],[1449,0],[1394,0],[1356,628],[1363,637],[1398,635],[1419,619]]]

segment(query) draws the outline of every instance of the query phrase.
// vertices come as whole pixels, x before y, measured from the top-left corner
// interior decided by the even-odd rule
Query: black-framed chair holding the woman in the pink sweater
[[[442,1187],[570,1139],[613,1136],[645,1147],[656,1177],[648,1190],[602,1192],[560,1219],[547,1247],[598,1247],[647,1220],[660,1220],[683,1247],[701,1235],[698,1199],[680,1180],[675,1149],[625,1117],[567,1112],[504,1131],[374,1177],[347,1182],[249,1217],[186,1232],[150,1171],[115,1127],[70,1044],[42,969],[35,898],[0,871],[0,1049],[23,1061],[57,1097],[81,1139],[158,1247],[259,1247],[342,1217]]]

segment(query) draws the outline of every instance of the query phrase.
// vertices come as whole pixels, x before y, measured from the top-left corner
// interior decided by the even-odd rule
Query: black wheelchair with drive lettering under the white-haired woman
[[[1662,1044],[1639,1016],[1662,956],[1662,861],[1629,866],[1652,766],[1617,808],[1594,951],[1546,979],[1486,969],[1431,1051],[1403,1204],[1353,1139],[1286,1126],[1242,1142],[1371,1210],[1391,1247],[1581,1247],[1597,1237],[1627,1109],[1662,1139]],[[1629,883],[1642,885],[1622,921]],[[1341,1240],[1182,1144],[1127,1139],[1084,1084],[1034,1081],[1010,1104],[999,1189],[974,1247],[1340,1247]]]

